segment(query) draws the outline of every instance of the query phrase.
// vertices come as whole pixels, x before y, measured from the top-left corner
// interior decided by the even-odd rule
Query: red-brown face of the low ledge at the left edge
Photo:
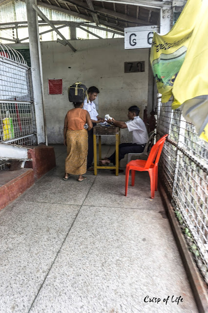
[[[0,209],[17,199],[27,188],[34,184],[34,171],[28,169],[15,179],[0,187]]]

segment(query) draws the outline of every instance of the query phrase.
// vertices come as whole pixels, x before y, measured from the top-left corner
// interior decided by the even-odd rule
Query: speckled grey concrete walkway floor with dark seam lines
[[[127,197],[124,173],[64,181],[65,147],[54,148],[57,167],[0,211],[0,313],[197,313],[148,174]]]

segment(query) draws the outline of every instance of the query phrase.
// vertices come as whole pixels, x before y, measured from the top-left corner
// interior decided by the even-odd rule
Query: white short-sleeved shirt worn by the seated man
[[[125,122],[129,132],[132,132],[132,143],[138,145],[146,144],[149,136],[145,123],[139,116],[135,116],[133,120]]]

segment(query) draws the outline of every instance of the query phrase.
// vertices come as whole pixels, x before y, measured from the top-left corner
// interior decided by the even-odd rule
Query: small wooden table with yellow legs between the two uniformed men
[[[98,166],[97,165],[97,140],[96,136],[98,136],[99,143],[99,160],[101,160],[101,136],[115,136],[116,137],[116,165],[115,166]],[[120,144],[120,128],[109,125],[102,126],[97,125],[93,127],[93,147],[94,147],[94,175],[98,174],[97,169],[115,169],[116,176],[119,175],[119,144]]]

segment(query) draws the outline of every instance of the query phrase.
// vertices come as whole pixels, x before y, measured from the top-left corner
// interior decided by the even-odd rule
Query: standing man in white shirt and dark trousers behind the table
[[[98,93],[100,93],[100,91],[97,87],[95,86],[90,87],[88,89],[89,102],[87,103],[87,98],[85,98],[83,105],[83,109],[89,112],[93,127],[100,122],[104,122],[104,119],[102,117],[99,117],[95,104],[93,102],[96,99]],[[91,167],[92,161],[93,161],[93,128],[88,132],[88,154],[87,154],[88,171],[94,170]]]

